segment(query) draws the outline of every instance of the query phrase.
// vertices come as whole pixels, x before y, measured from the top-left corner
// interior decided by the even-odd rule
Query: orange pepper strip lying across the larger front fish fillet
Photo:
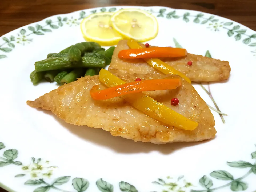
[[[181,80],[179,78],[152,79],[125,83],[100,91],[98,91],[99,85],[95,85],[91,88],[90,94],[94,100],[104,100],[142,91],[176,89],[179,86],[181,86]]]

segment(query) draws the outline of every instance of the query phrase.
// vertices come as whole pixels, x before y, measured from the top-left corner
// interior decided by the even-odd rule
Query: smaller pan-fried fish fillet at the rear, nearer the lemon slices
[[[143,44],[141,45],[145,47]],[[123,73],[130,74],[161,74],[160,71],[148,65],[143,59],[119,59],[118,53],[123,49],[129,49],[127,40],[119,41],[114,50],[109,69],[119,69]],[[189,53],[186,57],[159,59],[182,72],[194,82],[222,81],[229,78],[231,70],[227,61]],[[192,66],[187,65],[188,61],[193,62]]]

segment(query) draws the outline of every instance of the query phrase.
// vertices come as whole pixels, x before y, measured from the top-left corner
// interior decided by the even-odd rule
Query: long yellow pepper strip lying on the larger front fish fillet
[[[100,70],[99,80],[107,87],[113,87],[126,83],[105,69]],[[123,95],[122,98],[149,117],[163,122],[166,125],[189,131],[194,130],[198,126],[197,122],[191,121],[162,103],[155,101],[144,93]]]

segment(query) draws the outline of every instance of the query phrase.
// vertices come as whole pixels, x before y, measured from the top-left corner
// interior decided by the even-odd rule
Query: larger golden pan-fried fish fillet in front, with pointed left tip
[[[115,71],[118,70],[111,70],[114,75],[126,82],[132,82],[137,78],[163,79],[170,76],[120,74]],[[194,87],[185,80],[182,80],[182,86],[175,90],[150,91],[146,94],[185,117],[197,121],[199,125],[193,131],[168,127],[135,109],[120,97],[95,101],[90,96],[90,89],[94,85],[100,85],[100,89],[106,88],[99,81],[98,75],[81,77],[77,81],[46,93],[35,101],[27,101],[27,104],[31,107],[51,110],[67,123],[102,128],[113,136],[134,141],[155,144],[202,141],[211,139],[216,134],[210,109]],[[179,105],[170,104],[173,97],[179,98]]]

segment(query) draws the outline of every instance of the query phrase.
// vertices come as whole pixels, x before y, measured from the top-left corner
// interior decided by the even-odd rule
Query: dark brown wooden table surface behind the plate
[[[166,6],[207,12],[256,30],[256,0],[0,0],[0,36],[56,14],[117,5]],[[0,167],[1,169],[1,167]],[[11,178],[10,178],[11,179]],[[14,178],[13,178],[14,179]],[[31,189],[33,191],[33,189]],[[0,192],[6,192],[0,188]]]

